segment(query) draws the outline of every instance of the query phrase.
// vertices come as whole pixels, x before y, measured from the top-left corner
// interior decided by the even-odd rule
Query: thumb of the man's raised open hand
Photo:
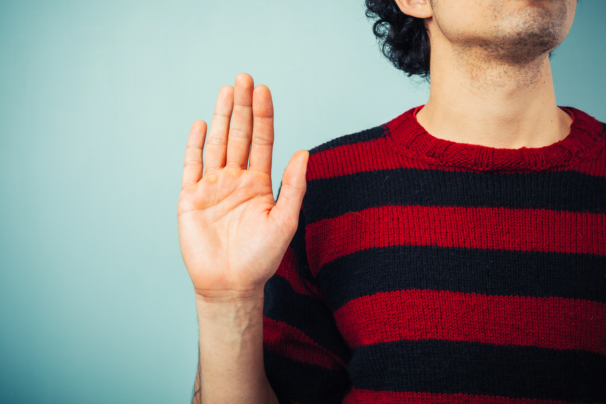
[[[270,213],[284,232],[291,237],[295,234],[299,223],[299,211],[307,188],[305,172],[307,172],[308,157],[307,150],[299,150],[290,158],[282,177],[278,202]]]

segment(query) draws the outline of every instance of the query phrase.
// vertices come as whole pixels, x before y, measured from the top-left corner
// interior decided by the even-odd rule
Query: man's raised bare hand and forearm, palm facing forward
[[[263,288],[295,235],[308,153],[291,158],[275,203],[271,93],[245,73],[222,87],[206,130],[191,127],[177,207],[200,332],[193,402],[278,403],[263,366]]]

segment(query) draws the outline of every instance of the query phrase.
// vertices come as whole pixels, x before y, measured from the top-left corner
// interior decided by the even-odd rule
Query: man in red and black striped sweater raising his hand
[[[191,129],[193,401],[606,402],[604,124],[548,60],[576,2],[367,6],[425,106],[295,153],[276,203],[267,87],[239,75]]]

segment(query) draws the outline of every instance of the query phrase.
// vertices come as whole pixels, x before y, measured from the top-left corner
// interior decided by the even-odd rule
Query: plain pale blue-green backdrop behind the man
[[[552,59],[606,120],[606,2]],[[191,123],[248,72],[290,155],[424,104],[360,0],[0,1],[0,402],[187,403],[196,314],[176,201]]]

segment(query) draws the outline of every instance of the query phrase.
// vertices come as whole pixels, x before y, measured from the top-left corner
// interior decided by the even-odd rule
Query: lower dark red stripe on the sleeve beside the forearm
[[[297,362],[310,363],[327,369],[343,369],[345,363],[318,345],[301,330],[284,322],[263,316],[263,345]]]

